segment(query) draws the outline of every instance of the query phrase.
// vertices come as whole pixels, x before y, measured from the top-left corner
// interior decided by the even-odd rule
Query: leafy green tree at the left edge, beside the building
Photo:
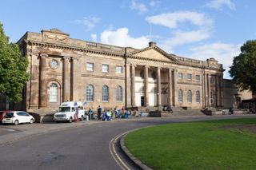
[[[22,57],[18,45],[9,43],[0,22],[0,93],[9,101],[22,101],[22,90],[29,79],[27,57]]]

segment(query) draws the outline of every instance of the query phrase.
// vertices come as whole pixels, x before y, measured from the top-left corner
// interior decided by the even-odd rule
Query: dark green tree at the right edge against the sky
[[[256,40],[247,41],[241,46],[241,53],[234,57],[230,76],[242,89],[256,92]]]

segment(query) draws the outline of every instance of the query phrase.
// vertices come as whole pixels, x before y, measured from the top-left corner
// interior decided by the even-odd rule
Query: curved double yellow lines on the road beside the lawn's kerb
[[[113,156],[114,160],[117,162],[117,164],[125,170],[130,170],[130,168],[122,161],[120,156],[118,156],[118,153],[116,152],[114,148],[114,143],[117,142],[118,138],[122,135],[124,135],[126,132],[122,133],[121,135],[115,136],[112,140],[110,140],[109,148],[110,148],[110,153]]]

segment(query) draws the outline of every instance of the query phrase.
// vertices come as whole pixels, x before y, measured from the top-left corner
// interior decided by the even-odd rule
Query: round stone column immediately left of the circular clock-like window
[[[47,107],[46,53],[40,54],[39,66],[39,109]]]

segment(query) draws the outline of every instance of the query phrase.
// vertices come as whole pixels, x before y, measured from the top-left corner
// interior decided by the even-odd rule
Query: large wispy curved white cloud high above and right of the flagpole
[[[159,43],[159,46],[167,52],[171,52],[174,46],[200,42],[209,38],[214,23],[206,14],[191,11],[159,14],[146,18],[146,21],[154,25],[166,26],[170,29],[172,37],[166,38]],[[196,28],[190,31],[181,30],[178,28],[179,24],[190,24],[196,26]],[[190,28],[190,25],[186,25],[186,29]]]

